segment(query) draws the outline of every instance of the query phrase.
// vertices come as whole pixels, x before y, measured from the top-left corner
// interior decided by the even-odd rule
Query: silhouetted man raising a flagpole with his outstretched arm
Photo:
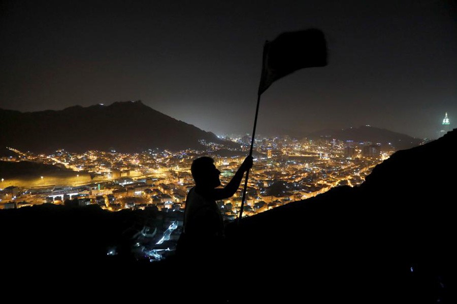
[[[223,188],[220,171],[210,157],[200,157],[192,162],[190,171],[195,186],[186,198],[183,233],[178,241],[177,254],[189,262],[211,264],[224,258],[224,222],[216,201],[232,197],[240,186],[244,172],[252,167],[252,157],[241,164],[232,180]]]

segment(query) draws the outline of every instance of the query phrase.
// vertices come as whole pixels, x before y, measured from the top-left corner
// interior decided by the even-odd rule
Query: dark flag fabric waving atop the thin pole
[[[258,95],[273,82],[305,67],[327,65],[327,43],[321,30],[310,28],[285,32],[264,46],[262,77]]]

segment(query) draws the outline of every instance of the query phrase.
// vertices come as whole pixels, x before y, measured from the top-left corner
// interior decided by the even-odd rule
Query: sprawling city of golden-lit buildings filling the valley
[[[66,167],[78,174],[90,175],[90,182],[55,184],[40,187],[14,185],[0,191],[0,208],[18,208],[32,204],[98,204],[117,211],[144,209],[182,210],[193,179],[193,159],[209,155],[221,171],[221,182],[230,181],[245,156],[249,136],[227,136],[240,144],[237,151],[204,143],[205,151],[147,150],[142,154],[115,151],[87,151],[84,154],[57,150],[51,155],[18,153],[19,160]],[[343,142],[335,139],[297,140],[288,136],[255,139],[254,166],[250,171],[243,214],[252,215],[288,202],[307,199],[338,185],[361,184],[371,169],[393,151],[382,152],[371,142]],[[43,179],[43,177],[42,177]],[[3,183],[4,181],[2,181]],[[1,185],[0,185],[1,187]],[[218,202],[227,219],[237,216],[242,189]]]

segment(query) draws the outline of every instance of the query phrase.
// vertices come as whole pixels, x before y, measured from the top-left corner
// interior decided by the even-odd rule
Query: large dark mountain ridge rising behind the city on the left
[[[19,112],[0,109],[0,146],[35,153],[59,148],[141,152],[148,148],[203,148],[199,140],[237,146],[211,132],[178,121],[141,101]]]

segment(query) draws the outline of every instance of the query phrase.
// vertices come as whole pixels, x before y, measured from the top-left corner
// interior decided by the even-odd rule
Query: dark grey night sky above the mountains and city
[[[258,134],[457,127],[454,1],[2,1],[0,108],[141,99],[218,135],[250,133],[263,45],[309,27],[329,64],[275,82]]]

